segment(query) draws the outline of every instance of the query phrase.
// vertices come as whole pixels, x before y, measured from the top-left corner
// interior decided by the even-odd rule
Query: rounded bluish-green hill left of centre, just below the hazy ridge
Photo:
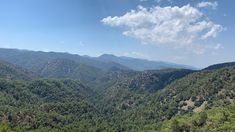
[[[84,82],[95,81],[104,74],[98,68],[77,63],[69,59],[55,59],[42,64],[36,73],[47,78],[70,78]]]

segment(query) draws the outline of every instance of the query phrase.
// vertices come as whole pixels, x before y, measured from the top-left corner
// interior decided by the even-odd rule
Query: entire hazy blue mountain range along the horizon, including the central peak
[[[119,70],[156,70],[165,68],[186,68],[195,69],[190,66],[173,64],[168,62],[148,61],[130,57],[116,57],[104,54],[100,57],[79,56],[77,54],[60,52],[42,52],[18,49],[0,48],[0,59],[21,66],[28,70],[35,70],[38,66],[48,63],[55,59],[70,59],[80,64],[96,67],[104,71]]]

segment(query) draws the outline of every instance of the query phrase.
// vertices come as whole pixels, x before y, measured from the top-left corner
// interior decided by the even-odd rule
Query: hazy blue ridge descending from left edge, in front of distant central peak
[[[42,52],[0,48],[0,59],[29,70],[35,70],[38,66],[41,66],[42,64],[48,63],[55,59],[69,59],[102,70],[109,70],[112,67],[128,69],[125,66],[120,66],[120,64],[116,63],[104,63],[89,57],[79,56],[77,54],[59,52]]]

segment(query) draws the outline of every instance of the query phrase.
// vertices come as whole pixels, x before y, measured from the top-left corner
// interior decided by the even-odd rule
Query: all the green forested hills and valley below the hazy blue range
[[[235,130],[233,63],[104,71],[53,59],[34,72],[1,61],[0,71],[0,131]]]

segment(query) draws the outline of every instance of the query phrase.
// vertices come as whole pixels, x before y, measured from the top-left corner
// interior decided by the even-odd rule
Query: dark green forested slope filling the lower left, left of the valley
[[[93,95],[72,80],[0,79],[0,122],[14,131],[102,131],[108,123],[90,102]]]

